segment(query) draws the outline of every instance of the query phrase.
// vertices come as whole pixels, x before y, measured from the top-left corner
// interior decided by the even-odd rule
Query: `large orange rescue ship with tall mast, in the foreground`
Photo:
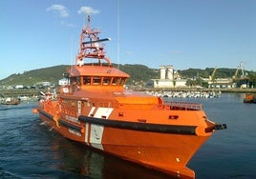
[[[129,75],[105,56],[99,30],[80,34],[76,64],[58,94],[42,93],[39,117],[63,136],[117,157],[182,178],[186,164],[216,129],[201,104],[164,103],[158,96],[125,89]],[[87,41],[86,41],[87,40]],[[85,63],[84,60],[96,60]]]

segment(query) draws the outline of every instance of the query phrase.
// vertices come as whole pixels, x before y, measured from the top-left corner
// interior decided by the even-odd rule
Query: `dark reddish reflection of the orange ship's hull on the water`
[[[49,128],[46,130],[50,130],[46,137],[51,143],[53,161],[56,161],[55,168],[71,172],[70,175],[66,174],[67,177],[113,179],[115,176],[116,178],[170,179],[170,176],[157,170],[147,169],[115,156],[103,154],[96,149],[67,140],[54,130]],[[65,174],[62,173],[61,176]]]

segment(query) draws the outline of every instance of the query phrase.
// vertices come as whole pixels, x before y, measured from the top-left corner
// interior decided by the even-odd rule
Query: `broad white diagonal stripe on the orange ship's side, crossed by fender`
[[[94,115],[96,118],[104,118],[108,119],[110,114],[112,113],[112,108],[98,108],[96,109],[96,114]],[[104,120],[102,119],[102,120]],[[91,125],[91,132],[90,132],[90,141],[89,143],[92,145],[92,147],[96,149],[103,149],[102,146],[102,135],[103,135],[104,127],[99,125]]]

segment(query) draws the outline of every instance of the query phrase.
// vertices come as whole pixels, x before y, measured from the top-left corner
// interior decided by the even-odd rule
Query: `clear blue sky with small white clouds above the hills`
[[[75,63],[86,10],[113,63],[256,70],[255,0],[1,0],[0,79]]]

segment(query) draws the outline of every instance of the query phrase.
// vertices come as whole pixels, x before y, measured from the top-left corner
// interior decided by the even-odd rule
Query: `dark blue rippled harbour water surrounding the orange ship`
[[[244,104],[244,97],[165,99],[202,103],[210,120],[227,125],[188,163],[197,178],[256,178],[256,104]],[[60,136],[32,114],[34,107],[0,106],[0,178],[170,178]]]

